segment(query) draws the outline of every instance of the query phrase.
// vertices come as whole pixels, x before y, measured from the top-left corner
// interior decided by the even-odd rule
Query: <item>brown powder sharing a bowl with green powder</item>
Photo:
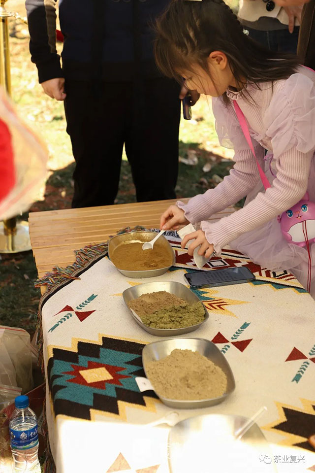
[[[149,250],[148,250],[149,251]],[[175,294],[166,291],[151,292],[149,294],[142,294],[142,296],[129,302],[130,309],[134,310],[140,318],[150,315],[156,310],[164,309],[172,305],[179,307],[186,307],[188,304],[184,299],[181,299]]]

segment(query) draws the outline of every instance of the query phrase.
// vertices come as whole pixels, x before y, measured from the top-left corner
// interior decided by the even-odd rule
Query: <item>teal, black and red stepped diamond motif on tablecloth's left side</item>
[[[55,415],[91,420],[91,409],[125,417],[125,404],[154,411],[154,391],[139,392],[136,376],[145,376],[145,345],[113,337],[102,343],[79,341],[76,351],[53,348],[48,383]],[[158,401],[157,401],[158,402]]]

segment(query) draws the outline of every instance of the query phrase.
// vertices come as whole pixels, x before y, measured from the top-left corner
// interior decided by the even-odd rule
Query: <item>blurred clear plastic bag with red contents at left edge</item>
[[[0,121],[1,133],[5,135],[9,132],[11,135],[10,142],[7,136],[3,137],[2,142],[0,140],[0,171],[3,174],[0,181],[7,184],[0,199],[0,220],[3,220],[26,211],[37,200],[47,173],[48,152],[18,118],[1,88]],[[13,156],[10,156],[10,149]]]

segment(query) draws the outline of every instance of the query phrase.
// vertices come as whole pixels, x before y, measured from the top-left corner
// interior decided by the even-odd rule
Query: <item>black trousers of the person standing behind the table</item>
[[[72,207],[109,205],[118,192],[123,145],[138,202],[173,199],[178,174],[179,85],[145,80],[139,101],[131,82],[67,80],[67,133],[76,162]]]

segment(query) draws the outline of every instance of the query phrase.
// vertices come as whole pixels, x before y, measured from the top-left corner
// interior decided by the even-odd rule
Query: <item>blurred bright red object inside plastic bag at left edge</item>
[[[15,184],[15,169],[11,134],[7,125],[0,120],[0,202],[9,194]]]

